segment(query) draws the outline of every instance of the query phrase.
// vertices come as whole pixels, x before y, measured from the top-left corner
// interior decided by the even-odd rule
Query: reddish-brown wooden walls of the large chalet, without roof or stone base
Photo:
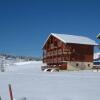
[[[67,70],[68,62],[83,63],[92,61],[93,45],[64,43],[51,35],[43,46],[43,63],[46,63],[48,67]],[[76,63],[77,66],[78,63]]]

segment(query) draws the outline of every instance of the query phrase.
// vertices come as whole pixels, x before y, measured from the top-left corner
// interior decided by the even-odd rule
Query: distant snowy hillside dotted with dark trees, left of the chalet
[[[31,57],[31,56],[15,56],[10,54],[0,53],[0,66],[3,64],[4,66],[12,66],[15,63],[19,62],[30,62],[30,61],[41,61],[41,58]]]

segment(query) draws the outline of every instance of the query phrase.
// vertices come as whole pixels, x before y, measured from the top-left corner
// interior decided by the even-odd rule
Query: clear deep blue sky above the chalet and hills
[[[51,32],[100,42],[100,0],[0,0],[0,52],[41,56]]]

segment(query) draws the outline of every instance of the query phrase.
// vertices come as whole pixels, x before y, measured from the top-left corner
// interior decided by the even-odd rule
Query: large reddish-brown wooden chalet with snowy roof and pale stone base
[[[95,45],[88,37],[51,33],[43,45],[43,63],[60,70],[91,69]]]

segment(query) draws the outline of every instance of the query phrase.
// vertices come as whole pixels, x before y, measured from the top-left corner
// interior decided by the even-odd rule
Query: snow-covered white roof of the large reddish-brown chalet
[[[56,37],[57,39],[61,40],[64,43],[85,44],[85,45],[98,45],[94,40],[92,40],[92,39],[90,39],[88,37],[85,37],[85,36],[51,33],[49,35],[49,37],[51,35]],[[49,39],[49,37],[47,38],[47,40]],[[47,42],[47,40],[46,40],[46,42]]]

